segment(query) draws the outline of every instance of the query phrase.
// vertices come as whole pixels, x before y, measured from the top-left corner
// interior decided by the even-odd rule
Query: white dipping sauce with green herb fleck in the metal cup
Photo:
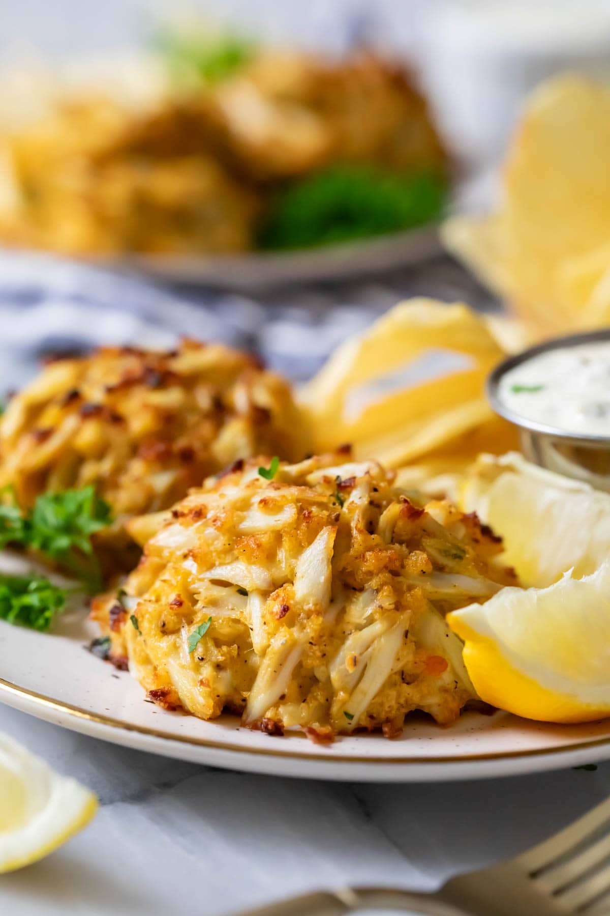
[[[545,426],[610,436],[610,340],[532,356],[500,378],[498,398]]]

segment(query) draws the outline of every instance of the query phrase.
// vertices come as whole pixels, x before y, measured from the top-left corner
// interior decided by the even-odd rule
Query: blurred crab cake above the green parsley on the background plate
[[[447,170],[423,95],[406,71],[371,53],[331,60],[264,51],[204,108],[210,142],[250,180],[286,180],[333,162]]]

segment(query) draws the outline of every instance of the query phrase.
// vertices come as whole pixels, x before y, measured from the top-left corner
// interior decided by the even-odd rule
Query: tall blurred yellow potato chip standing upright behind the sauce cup
[[[462,257],[537,333],[610,321],[610,89],[580,76],[530,97],[485,218],[444,225]]]

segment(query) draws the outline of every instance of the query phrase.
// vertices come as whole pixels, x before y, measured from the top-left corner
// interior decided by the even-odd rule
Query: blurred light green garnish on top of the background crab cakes
[[[254,44],[230,32],[188,36],[167,31],[154,41],[176,82],[222,82],[247,64]]]

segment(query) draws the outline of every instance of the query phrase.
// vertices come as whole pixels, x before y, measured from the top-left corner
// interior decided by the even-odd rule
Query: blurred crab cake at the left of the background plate
[[[135,115],[98,97],[2,139],[0,234],[74,255],[237,252],[259,200],[209,149],[205,106]]]

